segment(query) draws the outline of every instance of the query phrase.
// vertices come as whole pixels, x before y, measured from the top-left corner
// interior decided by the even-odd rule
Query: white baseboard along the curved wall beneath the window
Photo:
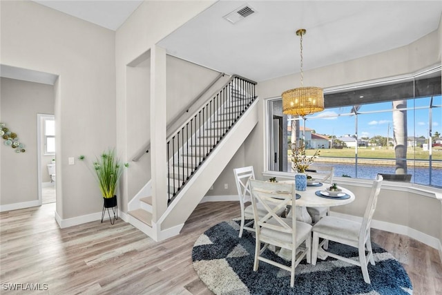
[[[345,218],[348,220],[354,220],[358,222],[362,221],[361,217],[333,212],[333,211],[330,212],[330,216],[337,216],[340,218]],[[424,234],[423,232],[417,231],[416,229],[405,227],[405,225],[396,225],[394,223],[380,221],[380,220],[372,220],[372,228],[381,229],[383,231],[390,231],[395,234],[402,234],[404,236],[414,238],[415,240],[419,240],[419,242],[423,242],[425,245],[428,245],[434,249],[439,249],[439,254],[441,254],[440,256],[442,259],[441,241],[437,238]]]

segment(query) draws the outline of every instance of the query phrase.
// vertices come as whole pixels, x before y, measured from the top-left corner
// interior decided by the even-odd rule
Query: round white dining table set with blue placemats
[[[294,184],[295,180],[282,180],[280,182]],[[325,191],[329,186],[329,183],[323,183],[323,185],[320,187],[307,185],[307,189],[305,191],[296,191],[296,193],[301,196],[296,200],[296,220],[311,224],[311,216],[307,212],[307,207],[334,207],[349,204],[354,201],[354,193],[352,193],[352,191],[349,189],[339,186],[338,189],[342,189],[342,192],[347,193],[350,198],[340,199],[334,197],[326,198],[325,196],[316,196],[316,191]]]

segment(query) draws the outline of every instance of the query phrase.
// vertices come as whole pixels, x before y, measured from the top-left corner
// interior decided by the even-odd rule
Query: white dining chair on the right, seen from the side
[[[313,249],[311,254],[311,264],[316,265],[318,255],[327,256],[343,260],[353,265],[358,265],[362,269],[363,278],[365,283],[370,283],[368,275],[367,264],[374,265],[372,241],[370,239],[370,226],[372,223],[372,217],[376,209],[376,203],[378,200],[379,191],[381,191],[382,176],[378,175],[373,182],[372,191],[370,193],[367,207],[365,209],[362,222],[356,222],[334,216],[325,216],[314,225],[313,231]],[[358,248],[358,260],[345,258],[337,254],[333,254],[329,251],[325,251],[319,244],[319,239],[323,238],[324,241],[333,240],[341,244],[350,245]],[[323,244],[323,242],[321,242]],[[365,255],[367,252],[367,255]]]

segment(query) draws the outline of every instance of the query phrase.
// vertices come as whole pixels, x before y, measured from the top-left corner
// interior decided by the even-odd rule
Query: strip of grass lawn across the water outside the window
[[[307,155],[313,155],[316,150],[309,149],[306,151]],[[288,151],[289,156],[291,155],[291,150]],[[320,149],[320,157],[338,157],[338,158],[354,158],[355,149],[354,148],[344,148],[344,149]],[[358,148],[358,158],[374,158],[374,159],[394,159],[394,149],[386,149],[382,147],[379,149],[376,147],[372,150],[371,147]],[[407,150],[407,159],[409,160],[428,160],[430,158],[429,151],[423,151],[422,148]],[[442,160],[442,149],[441,147],[433,148],[432,150],[432,160]]]

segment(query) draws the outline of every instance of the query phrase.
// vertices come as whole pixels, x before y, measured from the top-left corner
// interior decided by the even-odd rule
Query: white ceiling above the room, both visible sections
[[[142,1],[36,1],[116,30]],[[224,15],[255,13],[232,24]],[[257,82],[398,48],[436,30],[442,1],[218,1],[160,41],[170,55]]]

